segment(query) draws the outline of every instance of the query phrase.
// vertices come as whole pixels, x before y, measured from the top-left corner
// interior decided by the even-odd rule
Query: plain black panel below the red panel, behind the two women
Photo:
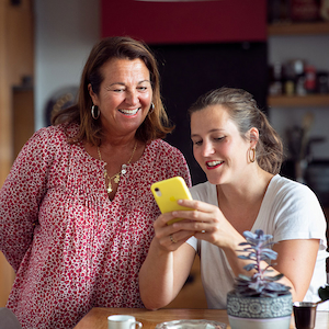
[[[185,156],[193,184],[204,182],[192,154],[188,109],[201,94],[225,86],[249,91],[266,111],[266,43],[152,45],[151,49],[159,63],[163,103],[175,124],[167,141]]]

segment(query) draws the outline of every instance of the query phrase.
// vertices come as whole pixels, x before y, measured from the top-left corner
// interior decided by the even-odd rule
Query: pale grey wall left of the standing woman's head
[[[99,0],[34,0],[35,128],[45,125],[48,98],[79,86],[86,59],[100,38]]]

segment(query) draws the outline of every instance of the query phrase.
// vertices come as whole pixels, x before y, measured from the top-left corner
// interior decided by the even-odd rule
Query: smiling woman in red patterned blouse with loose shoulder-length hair
[[[0,191],[0,249],[23,328],[72,328],[92,307],[143,307],[138,271],[159,209],[152,182],[182,175],[156,59],[141,42],[91,50],[78,103],[18,156]]]

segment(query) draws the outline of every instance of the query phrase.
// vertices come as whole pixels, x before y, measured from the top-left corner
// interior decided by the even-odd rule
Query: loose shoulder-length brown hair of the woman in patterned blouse
[[[150,83],[152,88],[154,111],[150,111],[143,124],[136,132],[136,138],[144,143],[164,138],[171,133],[173,125],[169,122],[160,95],[160,75],[155,56],[149,47],[139,41],[128,36],[106,37],[97,43],[84,65],[77,104],[59,111],[52,118],[52,124],[72,124],[79,125],[80,129],[77,136],[70,139],[70,143],[87,140],[92,145],[101,145],[102,126],[100,120],[93,120],[91,116],[92,100],[88,91],[90,83],[95,94],[100,92],[100,86],[104,80],[102,67],[113,58],[134,60],[139,58],[145,63],[150,73]]]

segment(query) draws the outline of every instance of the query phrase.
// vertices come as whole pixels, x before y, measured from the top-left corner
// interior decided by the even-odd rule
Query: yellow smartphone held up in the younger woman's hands
[[[192,200],[190,190],[181,177],[173,177],[168,180],[156,182],[151,184],[151,191],[162,214],[174,211],[193,211],[192,208],[183,207],[177,203],[180,198]],[[173,218],[169,220],[167,225],[171,225],[182,219],[183,218]]]

